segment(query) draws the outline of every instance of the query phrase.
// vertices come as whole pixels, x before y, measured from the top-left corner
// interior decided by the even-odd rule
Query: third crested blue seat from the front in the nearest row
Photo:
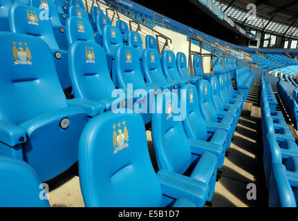
[[[185,99],[186,116],[183,120],[183,128],[189,138],[189,143],[198,144],[202,150],[216,155],[218,158],[218,168],[221,168],[225,160],[225,149],[227,148],[227,142],[225,140],[227,140],[227,133],[218,129],[211,131],[206,126],[201,115],[200,107],[198,106],[198,89],[196,86],[185,84],[181,89],[181,91],[185,90],[185,92],[183,91],[185,96],[181,96],[181,102]]]

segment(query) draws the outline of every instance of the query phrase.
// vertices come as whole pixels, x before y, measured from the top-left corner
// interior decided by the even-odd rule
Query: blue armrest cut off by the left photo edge
[[[0,119],[0,142],[8,146],[16,146],[26,142],[24,128]]]

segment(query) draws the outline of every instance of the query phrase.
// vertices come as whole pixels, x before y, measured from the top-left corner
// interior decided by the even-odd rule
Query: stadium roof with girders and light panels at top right
[[[243,28],[298,39],[297,0],[212,0],[220,10]],[[257,16],[248,19],[248,4],[254,3]]]

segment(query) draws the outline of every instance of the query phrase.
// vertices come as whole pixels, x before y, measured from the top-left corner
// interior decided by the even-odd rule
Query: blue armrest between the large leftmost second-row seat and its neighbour
[[[101,113],[104,113],[104,109],[106,108],[106,104],[102,102],[96,102],[90,99],[68,99],[67,100],[68,106],[77,106],[82,108],[89,117],[94,117]]]

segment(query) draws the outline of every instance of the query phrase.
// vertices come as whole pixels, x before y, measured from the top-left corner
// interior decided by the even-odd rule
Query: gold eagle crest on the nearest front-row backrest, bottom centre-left
[[[113,125],[113,153],[116,154],[124,148],[129,147],[129,131],[125,126],[126,122],[118,123]],[[122,132],[123,131],[123,132]]]

